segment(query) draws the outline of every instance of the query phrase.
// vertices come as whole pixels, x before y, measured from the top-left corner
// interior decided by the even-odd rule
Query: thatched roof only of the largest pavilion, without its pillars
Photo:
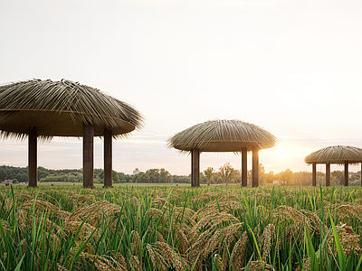
[[[82,136],[82,123],[117,137],[142,126],[137,109],[78,82],[33,79],[0,86],[0,137],[24,137],[33,126],[41,139]]]

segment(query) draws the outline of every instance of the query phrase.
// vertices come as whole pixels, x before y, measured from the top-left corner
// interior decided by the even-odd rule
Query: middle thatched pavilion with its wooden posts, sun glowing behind
[[[260,126],[241,120],[215,119],[191,126],[170,137],[168,147],[191,153],[191,185],[200,186],[200,153],[242,154],[242,185],[247,185],[247,152],[252,151],[252,186],[259,185],[259,150],[271,148],[277,139]]]

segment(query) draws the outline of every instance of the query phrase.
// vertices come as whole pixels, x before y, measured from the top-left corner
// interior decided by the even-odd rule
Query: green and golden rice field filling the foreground
[[[1,270],[361,270],[360,187],[0,188]]]

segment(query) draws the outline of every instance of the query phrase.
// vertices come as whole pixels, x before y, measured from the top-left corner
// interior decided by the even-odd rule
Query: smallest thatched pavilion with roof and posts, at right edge
[[[345,165],[345,186],[348,186],[348,164],[362,163],[362,149],[348,145],[332,145],[307,155],[305,163],[312,164],[312,185],[317,185],[317,164],[326,164],[326,185],[330,185],[330,164]]]

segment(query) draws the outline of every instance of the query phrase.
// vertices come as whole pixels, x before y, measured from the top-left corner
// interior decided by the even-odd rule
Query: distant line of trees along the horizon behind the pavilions
[[[349,174],[349,185],[360,184],[360,172]],[[51,170],[43,166],[38,167],[38,182],[82,182],[82,172],[76,169]],[[94,182],[103,183],[103,170],[94,169]],[[343,185],[343,171],[334,171],[330,173],[331,185]],[[0,166],[0,182],[5,180],[17,182],[28,182],[28,168],[14,167],[9,165]],[[190,183],[190,176],[171,175],[166,169],[149,169],[146,172],[140,172],[136,175],[112,172],[113,183]],[[242,173],[233,168],[229,163],[221,166],[218,171],[208,167],[200,173],[200,182],[203,184],[241,183]],[[259,164],[259,183],[261,185],[278,182],[281,185],[311,185],[310,172],[292,172],[290,169],[280,173],[265,173],[265,168]],[[326,174],[317,172],[317,183],[326,184]],[[248,184],[252,185],[252,170],[248,171]]]

